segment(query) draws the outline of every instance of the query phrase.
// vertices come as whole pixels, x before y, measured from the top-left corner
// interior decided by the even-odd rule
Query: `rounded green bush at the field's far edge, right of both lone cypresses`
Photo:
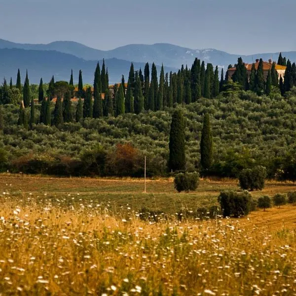
[[[239,185],[244,190],[262,190],[265,185],[266,168],[256,166],[253,169],[245,169],[239,175]]]

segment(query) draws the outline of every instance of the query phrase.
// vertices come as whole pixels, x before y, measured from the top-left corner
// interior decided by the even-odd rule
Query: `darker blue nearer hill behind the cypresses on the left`
[[[102,67],[103,61],[99,60],[99,62]],[[120,82],[122,74],[127,81],[130,69],[129,61],[111,58],[105,60],[105,63],[108,67],[110,83]],[[78,73],[81,69],[83,83],[93,83],[96,64],[97,60],[86,61],[58,51],[0,49],[0,79],[5,76],[9,80],[12,77],[13,83],[16,82],[18,68],[21,71],[22,82],[25,79],[27,69],[31,83],[39,83],[41,77],[43,77],[44,82],[48,82],[52,75],[54,75],[55,80],[68,81],[71,69],[73,69],[74,83],[77,83]],[[145,64],[134,63],[135,70],[139,70],[140,67],[144,71]],[[160,66],[157,66],[157,71],[160,73]],[[176,69],[166,67],[165,71],[176,71]]]

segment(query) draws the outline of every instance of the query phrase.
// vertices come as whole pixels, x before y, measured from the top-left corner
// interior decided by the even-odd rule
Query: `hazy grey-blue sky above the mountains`
[[[295,0],[0,0],[0,38],[108,50],[172,43],[235,54],[296,50]]]

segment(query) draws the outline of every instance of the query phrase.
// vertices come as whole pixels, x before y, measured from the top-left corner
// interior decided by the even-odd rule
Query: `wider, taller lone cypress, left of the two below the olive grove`
[[[169,169],[179,171],[185,169],[185,120],[181,110],[172,116],[169,142]]]

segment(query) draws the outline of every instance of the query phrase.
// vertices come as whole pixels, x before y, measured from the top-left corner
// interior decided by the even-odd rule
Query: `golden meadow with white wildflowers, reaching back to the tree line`
[[[242,219],[173,218],[236,180],[0,176],[0,295],[296,295],[296,207]],[[263,194],[295,190],[267,182]],[[142,221],[140,209],[172,216]]]

